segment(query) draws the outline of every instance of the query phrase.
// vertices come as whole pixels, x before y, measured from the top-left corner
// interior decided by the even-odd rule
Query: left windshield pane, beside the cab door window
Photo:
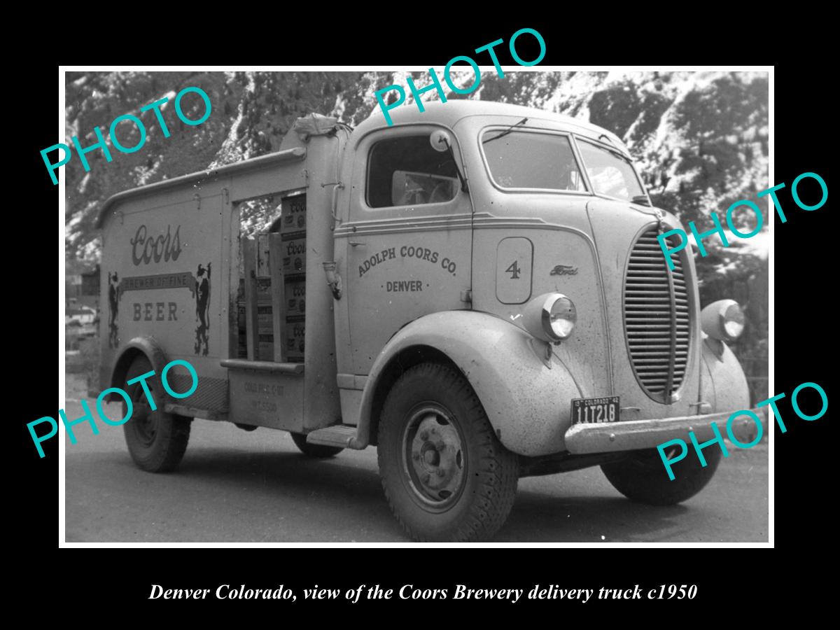
[[[567,136],[489,129],[481,146],[498,186],[585,191]]]

